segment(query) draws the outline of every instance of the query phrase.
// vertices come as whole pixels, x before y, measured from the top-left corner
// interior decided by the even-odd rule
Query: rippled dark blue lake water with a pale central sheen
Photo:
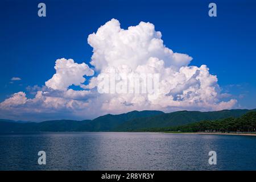
[[[38,164],[38,151],[46,165]],[[217,152],[209,165],[208,152]],[[256,170],[256,137],[161,133],[0,134],[0,170]]]

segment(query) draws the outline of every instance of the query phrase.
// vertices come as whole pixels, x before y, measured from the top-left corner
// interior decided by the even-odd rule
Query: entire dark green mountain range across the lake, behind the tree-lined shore
[[[95,119],[83,121],[54,120],[44,122],[15,122],[0,119],[0,132],[38,132],[38,131],[135,131],[152,127],[185,125],[203,120],[228,117],[241,117],[247,109],[221,111],[176,111],[163,113],[156,110],[130,111],[124,114],[106,114]],[[256,109],[254,109],[256,111]]]

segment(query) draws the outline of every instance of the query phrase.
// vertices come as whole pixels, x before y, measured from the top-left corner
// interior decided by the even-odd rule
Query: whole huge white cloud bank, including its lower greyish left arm
[[[237,102],[222,101],[217,76],[210,75],[207,65],[190,65],[191,56],[164,46],[162,34],[155,31],[154,24],[141,22],[123,30],[118,20],[112,19],[90,34],[88,43],[93,47],[90,64],[97,76],[85,63],[56,60],[56,73],[46,81],[47,89],[38,90],[32,99],[23,92],[15,93],[1,103],[0,116],[7,109],[18,108],[56,115],[68,110],[70,117],[87,118],[144,109],[221,110],[230,109]],[[116,85],[124,85],[129,75],[158,75],[159,90],[154,97],[152,93],[97,92],[102,79],[113,72]],[[84,84],[86,76],[93,76],[88,85]],[[71,85],[85,90],[72,90]]]

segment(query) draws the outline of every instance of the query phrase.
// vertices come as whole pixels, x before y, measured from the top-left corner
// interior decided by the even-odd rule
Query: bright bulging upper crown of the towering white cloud
[[[123,30],[118,20],[112,19],[88,37],[93,47],[90,64],[100,70],[122,65],[136,69],[138,65],[147,64],[150,57],[164,60],[166,67],[179,68],[190,63],[192,57],[174,53],[164,46],[161,37],[154,24],[141,22]]]

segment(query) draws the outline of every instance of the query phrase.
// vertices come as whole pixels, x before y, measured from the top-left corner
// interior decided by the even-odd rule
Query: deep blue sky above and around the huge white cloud
[[[37,15],[39,2],[47,6],[44,18]],[[115,18],[125,29],[153,23],[167,47],[192,56],[192,65],[206,64],[239,107],[255,108],[256,3],[213,2],[217,17],[210,18],[210,1],[1,1],[0,101],[44,85],[56,59],[89,64],[88,35]],[[12,77],[22,80],[11,84]]]

